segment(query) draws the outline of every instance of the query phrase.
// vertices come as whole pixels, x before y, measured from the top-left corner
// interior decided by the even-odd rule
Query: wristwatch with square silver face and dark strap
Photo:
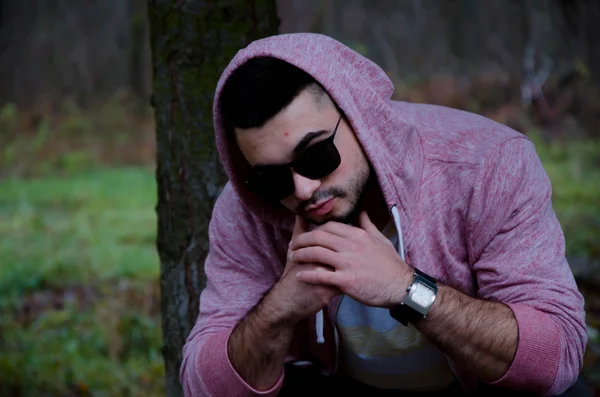
[[[435,279],[423,273],[419,269],[415,271],[413,282],[408,286],[408,294],[401,304],[390,309],[390,315],[408,326],[409,322],[414,322],[425,318],[429,309],[435,302],[437,295],[437,284]]]

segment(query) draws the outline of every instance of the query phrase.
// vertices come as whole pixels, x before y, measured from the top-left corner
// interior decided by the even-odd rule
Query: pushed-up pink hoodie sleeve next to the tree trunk
[[[186,397],[275,396],[281,388],[283,374],[270,390],[253,389],[227,355],[233,328],[268,291],[277,279],[277,266],[281,267],[273,249],[267,248],[261,227],[227,186],[209,226],[200,314],[183,348],[180,376]]]

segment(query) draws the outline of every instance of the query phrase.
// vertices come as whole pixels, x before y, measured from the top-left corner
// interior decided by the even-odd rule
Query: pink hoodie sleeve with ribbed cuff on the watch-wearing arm
[[[493,384],[543,395],[575,383],[587,343],[583,298],[551,196],[534,145],[513,138],[488,156],[469,211],[478,295],[510,307],[519,331],[515,358]]]

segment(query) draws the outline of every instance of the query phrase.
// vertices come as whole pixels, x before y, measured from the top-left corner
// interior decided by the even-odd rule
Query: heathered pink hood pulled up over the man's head
[[[243,186],[250,166],[235,140],[230,142],[219,113],[219,98],[231,73],[248,59],[271,56],[315,78],[344,111],[382,189],[388,208],[397,204],[403,224],[410,224],[411,203],[418,202],[422,150],[414,126],[402,117],[408,104],[391,100],[394,85],[375,63],[342,43],[320,34],[295,33],[252,42],[231,60],[214,100],[216,144],[233,189],[255,216],[291,229],[294,217],[283,206],[267,206]]]

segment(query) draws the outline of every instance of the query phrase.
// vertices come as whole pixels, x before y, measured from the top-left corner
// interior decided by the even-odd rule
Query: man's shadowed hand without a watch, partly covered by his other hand
[[[292,241],[302,235],[310,234],[308,230],[306,220],[296,216]],[[260,313],[262,316],[270,318],[271,321],[293,325],[323,309],[331,299],[340,294],[340,291],[335,287],[311,285],[298,280],[296,273],[300,270],[312,272],[326,272],[327,270],[325,266],[315,261],[299,263],[291,254],[291,249],[288,249],[285,270],[277,284],[265,297],[260,307]]]

